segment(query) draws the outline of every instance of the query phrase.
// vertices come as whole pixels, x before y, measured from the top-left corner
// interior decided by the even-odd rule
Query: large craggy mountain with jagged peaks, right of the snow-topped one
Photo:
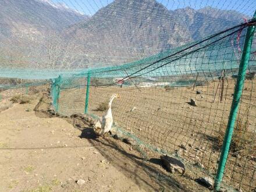
[[[241,23],[235,11],[168,10],[154,0],[116,0],[67,30],[91,63],[122,63],[179,47]]]

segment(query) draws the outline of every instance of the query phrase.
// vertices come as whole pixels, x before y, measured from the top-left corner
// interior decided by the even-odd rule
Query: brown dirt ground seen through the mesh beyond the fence
[[[150,144],[157,151],[178,154],[190,165],[200,165],[202,176],[213,179],[221,152],[221,141],[229,118],[235,80],[227,77],[223,82],[205,82],[195,87],[90,87],[89,113],[104,114],[97,108],[108,102],[113,93],[120,98],[112,105],[115,126]],[[81,86],[86,84],[81,83]],[[223,84],[223,89],[221,88]],[[238,119],[241,120],[240,150],[230,152],[223,177],[228,186],[243,191],[256,186],[256,80],[246,80]],[[140,86],[138,84],[138,86]],[[223,90],[223,91],[222,91]],[[198,94],[197,91],[200,93]],[[59,112],[71,115],[83,113],[86,89],[63,90],[59,98]],[[222,96],[221,96],[222,95]],[[191,106],[190,99],[197,106]],[[221,131],[220,131],[221,130]],[[223,138],[222,138],[223,141]],[[200,171],[194,175],[201,176]]]

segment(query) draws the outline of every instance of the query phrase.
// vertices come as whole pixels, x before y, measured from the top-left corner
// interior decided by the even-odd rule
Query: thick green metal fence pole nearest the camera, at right
[[[253,20],[255,20],[255,16],[256,16],[256,11],[254,13]],[[237,83],[234,89],[233,101],[232,101],[232,105],[229,113],[229,121],[227,123],[227,129],[226,129],[222,150],[221,150],[221,157],[219,159],[218,170],[217,170],[215,182],[214,182],[214,189],[216,191],[219,191],[221,189],[221,182],[222,182],[223,174],[225,171],[227,155],[229,154],[229,147],[232,140],[234,125],[236,123],[237,111],[239,109],[239,102],[240,102],[241,94],[244,87],[244,79],[246,77],[246,70],[248,67],[249,59],[250,59],[254,30],[255,30],[255,26],[248,26],[247,28],[247,33],[244,41],[243,54],[241,56],[239,73],[237,76]]]

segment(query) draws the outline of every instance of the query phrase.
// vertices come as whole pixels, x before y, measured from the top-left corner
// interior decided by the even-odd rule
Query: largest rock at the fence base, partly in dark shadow
[[[161,156],[162,165],[171,173],[175,173],[175,171],[179,171],[182,175],[185,173],[185,165],[179,159],[169,157],[168,155]]]

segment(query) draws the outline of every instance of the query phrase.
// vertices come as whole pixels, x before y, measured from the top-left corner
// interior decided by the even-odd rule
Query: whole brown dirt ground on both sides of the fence
[[[256,149],[254,84],[255,80],[246,82],[239,110],[243,122],[245,117],[249,122],[241,135],[246,148],[230,153],[223,182],[240,191],[253,191],[256,184],[256,154],[251,153]],[[214,178],[220,155],[216,139],[226,126],[233,89],[234,81],[227,79],[221,101],[219,81],[195,90],[91,87],[89,112],[103,115],[97,111],[99,104],[119,93],[112,106],[114,127],[155,147],[153,151],[112,137],[95,138],[81,120],[50,115],[46,94],[43,99],[30,94],[32,102],[21,105],[9,101],[19,91],[5,91],[0,102],[0,191],[208,191],[195,181]],[[62,91],[59,113],[83,113],[84,95],[83,87]],[[197,106],[189,104],[190,98]],[[154,151],[182,158],[186,173],[166,172]],[[86,184],[79,186],[79,179]]]

